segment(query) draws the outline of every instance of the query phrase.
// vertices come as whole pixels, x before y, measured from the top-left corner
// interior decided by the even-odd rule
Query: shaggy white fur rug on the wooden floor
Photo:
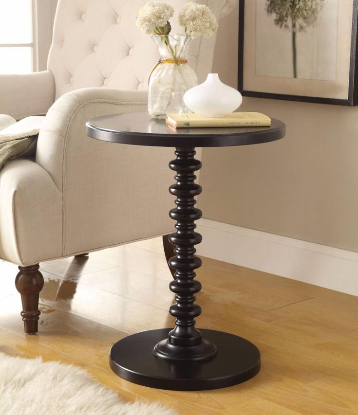
[[[85,370],[0,353],[1,415],[175,415],[158,403],[122,401]]]

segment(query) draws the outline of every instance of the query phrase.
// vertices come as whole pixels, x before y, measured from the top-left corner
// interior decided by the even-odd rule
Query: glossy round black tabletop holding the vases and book
[[[270,127],[173,128],[165,120],[151,119],[147,112],[105,115],[86,123],[87,135],[120,144],[157,147],[226,147],[268,143],[285,135],[282,121]]]

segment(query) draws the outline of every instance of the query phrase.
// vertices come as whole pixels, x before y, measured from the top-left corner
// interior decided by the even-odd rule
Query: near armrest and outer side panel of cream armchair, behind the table
[[[104,88],[68,92],[49,109],[36,160],[63,192],[64,256],[172,229],[173,149],[105,143],[86,135],[91,118],[143,111],[147,92]]]

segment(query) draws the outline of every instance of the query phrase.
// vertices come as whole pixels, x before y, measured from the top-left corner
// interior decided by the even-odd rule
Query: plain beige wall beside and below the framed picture
[[[222,21],[214,62],[236,87],[238,12]],[[358,108],[244,97],[283,120],[278,142],[205,149],[204,217],[358,252]]]

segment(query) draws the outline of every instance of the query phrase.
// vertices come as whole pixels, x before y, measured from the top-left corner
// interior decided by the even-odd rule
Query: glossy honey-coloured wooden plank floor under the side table
[[[255,378],[206,392],[150,389],[115,376],[108,350],[129,333],[171,327],[160,239],[41,264],[38,335],[24,335],[17,267],[0,262],[0,351],[85,367],[125,400],[179,414],[358,414],[358,297],[204,258],[198,326],[241,335],[262,352]],[[337,275],[339,278],[339,275]]]

